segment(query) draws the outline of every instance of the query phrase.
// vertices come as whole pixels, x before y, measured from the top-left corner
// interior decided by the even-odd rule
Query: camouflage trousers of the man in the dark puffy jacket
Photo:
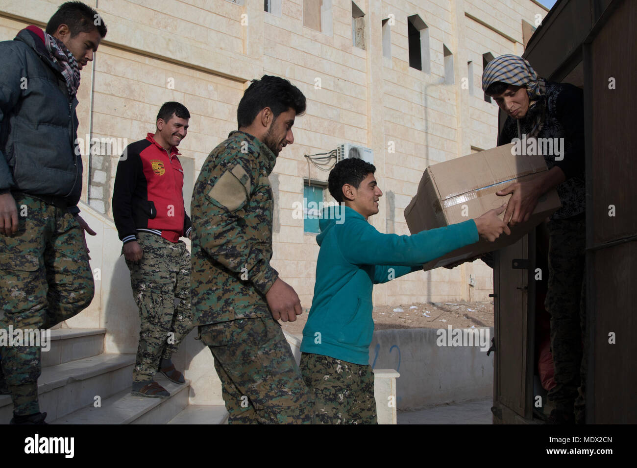
[[[0,234],[0,329],[48,329],[93,299],[82,228],[66,209],[18,192],[13,197],[18,232]],[[8,387],[15,415],[39,411],[40,358],[39,346],[0,346],[0,380]]]

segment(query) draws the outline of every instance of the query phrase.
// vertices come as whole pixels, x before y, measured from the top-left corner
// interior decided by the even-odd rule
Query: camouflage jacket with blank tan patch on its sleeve
[[[270,314],[265,294],[278,278],[272,258],[276,156],[233,131],[208,155],[192,193],[190,289],[194,325]]]

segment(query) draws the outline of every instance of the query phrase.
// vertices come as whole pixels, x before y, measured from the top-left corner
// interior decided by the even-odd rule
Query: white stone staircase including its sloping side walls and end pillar
[[[196,330],[185,337],[172,360],[186,383],[177,385],[158,374],[170,392],[166,399],[131,395],[140,321],[128,269],[120,257],[122,244],[113,222],[80,203],[82,217],[97,232],[87,236],[95,297],[90,306],[51,330],[51,347],[43,351],[38,379],[40,411],[54,424],[224,424],[227,411],[221,382],[210,351],[197,341]],[[189,245],[189,241],[186,241]],[[286,334],[297,363],[300,337]],[[378,422],[396,424],[395,371],[376,370]],[[99,397],[97,399],[96,397]],[[99,401],[99,405],[97,402]],[[10,395],[0,395],[0,424],[10,422]]]

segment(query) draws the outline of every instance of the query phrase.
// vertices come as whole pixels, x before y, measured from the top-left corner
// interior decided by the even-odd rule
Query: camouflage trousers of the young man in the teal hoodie
[[[301,372],[314,395],[317,424],[377,424],[374,371],[319,354],[301,354]]]

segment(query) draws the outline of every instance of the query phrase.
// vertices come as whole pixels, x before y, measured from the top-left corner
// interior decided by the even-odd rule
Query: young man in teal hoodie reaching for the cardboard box
[[[367,222],[378,213],[382,196],[375,171],[361,159],[345,159],[329,174],[329,192],[340,206],[325,209],[319,221],[314,298],[301,344],[300,367],[315,397],[316,423],[376,423],[369,365],[375,283],[419,271],[422,264],[476,243],[479,236],[494,241],[511,233],[497,217],[503,205],[475,220],[413,236],[382,234]]]

